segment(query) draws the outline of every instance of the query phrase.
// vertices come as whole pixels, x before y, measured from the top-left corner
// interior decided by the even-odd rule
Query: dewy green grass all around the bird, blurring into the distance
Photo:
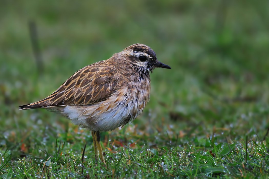
[[[267,7],[268,1],[3,1],[0,177],[268,178]],[[37,25],[40,68],[29,21]],[[107,167],[95,163],[89,131],[43,109],[18,111],[133,43],[149,45],[172,70],[151,74],[143,114],[101,134]]]

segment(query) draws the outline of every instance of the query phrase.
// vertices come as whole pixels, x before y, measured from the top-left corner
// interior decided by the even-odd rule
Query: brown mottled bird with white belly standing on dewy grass
[[[133,44],[111,58],[78,70],[43,100],[19,106],[19,110],[45,108],[91,131],[95,161],[106,165],[100,133],[132,122],[150,98],[150,73],[171,69],[157,60],[147,45]]]

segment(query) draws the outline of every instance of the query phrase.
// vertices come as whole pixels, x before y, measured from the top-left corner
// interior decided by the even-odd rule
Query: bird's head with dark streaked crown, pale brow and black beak
[[[139,73],[152,72],[154,68],[168,68],[157,60],[155,52],[144,44],[136,43],[125,48],[122,53],[125,55],[125,60],[132,65]]]

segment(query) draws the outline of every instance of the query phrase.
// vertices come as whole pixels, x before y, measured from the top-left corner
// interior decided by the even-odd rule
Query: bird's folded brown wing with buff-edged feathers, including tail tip
[[[95,63],[80,69],[50,96],[36,103],[20,106],[20,109],[87,105],[107,99],[115,91],[115,70],[100,64]]]

